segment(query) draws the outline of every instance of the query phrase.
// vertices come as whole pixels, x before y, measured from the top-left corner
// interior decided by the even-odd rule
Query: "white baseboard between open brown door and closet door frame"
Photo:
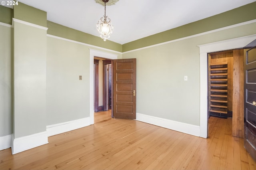
[[[156,125],[159,127],[168,128],[168,129],[175,130],[178,132],[191,134],[194,136],[200,136],[200,127],[196,126],[196,125],[190,125],[187,123],[172,121],[172,120],[163,119],[160,117],[144,115],[141,113],[136,113],[136,120],[144,122],[144,123]]]

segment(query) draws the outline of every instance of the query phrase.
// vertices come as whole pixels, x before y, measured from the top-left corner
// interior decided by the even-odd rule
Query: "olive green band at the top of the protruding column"
[[[22,4],[21,2],[18,3],[18,5],[13,6],[14,18],[39,26],[47,26],[47,13],[45,11]]]

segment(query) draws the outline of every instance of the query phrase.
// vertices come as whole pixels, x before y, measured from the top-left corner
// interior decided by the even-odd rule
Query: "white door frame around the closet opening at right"
[[[208,136],[208,62],[207,53],[243,48],[256,39],[256,34],[220,42],[198,45],[200,48],[200,137]]]

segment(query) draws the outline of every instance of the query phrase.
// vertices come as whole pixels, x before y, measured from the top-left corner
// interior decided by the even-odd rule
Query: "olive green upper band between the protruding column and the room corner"
[[[47,27],[47,34],[122,52],[122,45],[119,43],[109,40],[104,42],[100,37],[74,30],[50,21],[47,21]]]

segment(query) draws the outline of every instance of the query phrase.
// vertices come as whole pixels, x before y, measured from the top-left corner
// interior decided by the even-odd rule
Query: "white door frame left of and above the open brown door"
[[[94,124],[94,57],[102,57],[106,59],[117,59],[118,55],[98,51],[96,49],[90,50],[90,125]]]

